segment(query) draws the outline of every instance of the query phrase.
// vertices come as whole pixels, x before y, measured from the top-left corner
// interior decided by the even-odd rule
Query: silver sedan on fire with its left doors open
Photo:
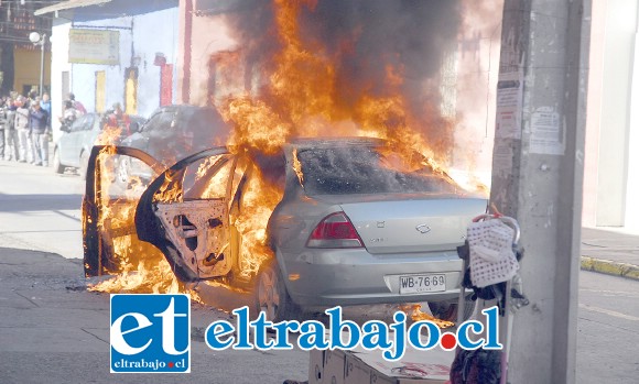
[[[136,158],[156,177],[133,197],[100,191],[109,179],[100,165],[106,152]],[[96,146],[83,201],[86,275],[121,272],[113,241],[134,233],[182,283],[252,289],[254,308],[274,321],[335,305],[418,301],[454,319],[456,246],[487,201],[429,166],[402,169],[401,157],[377,139],[300,139],[277,155],[213,147],[166,168],[139,149]],[[239,228],[257,175],[282,195],[264,226],[273,256],[247,279]],[[134,220],[113,224],[132,215],[122,208],[131,205]],[[468,300],[465,312],[472,307]]]

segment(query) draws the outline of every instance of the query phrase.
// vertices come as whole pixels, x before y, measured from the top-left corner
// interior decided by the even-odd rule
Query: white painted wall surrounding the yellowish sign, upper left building
[[[76,100],[83,102],[88,111],[96,108],[96,72],[106,73],[106,107],[115,102],[123,106],[124,75],[131,66],[131,58],[140,57],[138,77],[138,114],[148,117],[160,106],[160,67],[153,65],[156,53],[166,57],[166,64],[177,61],[178,34],[177,7],[149,12],[134,17],[120,17],[73,23],[74,29],[102,29],[119,31],[120,62],[118,65],[69,64],[68,31],[72,22],[66,19],[54,19],[53,58],[52,58],[52,96],[54,116],[62,110],[62,73],[71,73],[71,91]],[[174,65],[173,97],[175,100],[176,69]],[[66,95],[64,95],[66,98]],[[58,127],[59,124],[56,123]],[[59,133],[57,133],[59,134]]]

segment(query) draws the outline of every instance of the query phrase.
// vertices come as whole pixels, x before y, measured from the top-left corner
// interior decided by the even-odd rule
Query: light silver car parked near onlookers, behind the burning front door
[[[113,144],[118,144],[131,131],[136,131],[144,118],[130,116],[129,120],[129,127],[120,131],[119,135],[115,138]],[[63,131],[62,136],[53,149],[53,171],[62,174],[67,167],[78,168],[84,179],[91,147],[97,144],[98,138],[105,130],[104,116],[85,113],[79,116],[71,127],[63,125],[61,130]]]

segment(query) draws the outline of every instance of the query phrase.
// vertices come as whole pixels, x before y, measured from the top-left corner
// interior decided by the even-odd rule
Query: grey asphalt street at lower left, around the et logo
[[[192,303],[189,374],[111,374],[109,295],[86,289],[82,261],[0,248],[0,383],[273,383],[305,380],[308,352],[214,352],[204,330],[226,312]]]

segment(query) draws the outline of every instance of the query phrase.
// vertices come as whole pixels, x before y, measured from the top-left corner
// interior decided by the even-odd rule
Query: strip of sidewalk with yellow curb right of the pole
[[[639,235],[583,228],[582,270],[639,279]]]

